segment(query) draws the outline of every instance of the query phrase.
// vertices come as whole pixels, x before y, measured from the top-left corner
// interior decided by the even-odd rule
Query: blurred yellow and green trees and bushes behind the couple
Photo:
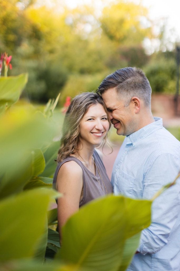
[[[9,75],[29,74],[23,98],[46,103],[61,92],[62,106],[66,96],[97,89],[125,66],[141,67],[154,93],[175,93],[175,44],[165,39],[165,21],[154,31],[142,4],[98,0],[70,8],[57,0],[0,0],[0,6],[0,51],[13,56]]]

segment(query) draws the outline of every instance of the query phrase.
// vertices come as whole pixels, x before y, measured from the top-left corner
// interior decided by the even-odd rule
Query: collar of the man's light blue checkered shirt
[[[154,122],[144,126],[140,130],[134,132],[133,134],[127,135],[127,144],[135,144],[136,141],[147,137],[148,135],[152,134],[154,131],[161,129],[162,126],[162,118],[154,117]]]

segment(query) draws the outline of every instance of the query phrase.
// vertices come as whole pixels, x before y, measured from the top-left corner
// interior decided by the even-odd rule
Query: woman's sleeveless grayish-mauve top
[[[96,176],[94,176],[94,174],[89,169],[87,169],[79,159],[73,156],[68,156],[62,162],[58,163],[55,174],[54,174],[53,188],[56,189],[57,173],[60,167],[62,166],[62,164],[66,163],[67,161],[75,161],[77,164],[79,164],[79,166],[83,170],[83,198],[81,199],[79,203],[79,207],[81,207],[82,205],[86,204],[87,202],[93,199],[99,198],[100,196],[107,195],[107,192],[113,193],[113,187],[107,176],[104,164],[95,150],[93,153],[93,157],[94,157],[94,162],[96,163],[96,166],[99,170],[99,173],[103,179],[104,184],[101,180],[101,177],[99,176],[97,169],[95,173]],[[104,185],[106,186],[106,188],[104,187]],[[106,189],[107,189],[107,192],[106,192]]]

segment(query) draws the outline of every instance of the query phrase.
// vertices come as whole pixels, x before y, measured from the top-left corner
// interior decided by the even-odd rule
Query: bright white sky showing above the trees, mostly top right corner
[[[127,0],[137,4],[142,3],[148,8],[150,18],[161,21],[161,18],[166,20],[167,38],[172,42],[180,42],[180,1],[179,0]],[[76,7],[77,4],[91,4],[93,0],[64,0],[69,7]],[[104,0],[104,2],[112,2],[112,0]],[[98,7],[98,1],[95,1]]]

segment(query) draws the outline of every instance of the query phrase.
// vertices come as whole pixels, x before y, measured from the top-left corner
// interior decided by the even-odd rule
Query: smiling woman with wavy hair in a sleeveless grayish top
[[[59,233],[79,207],[113,188],[94,148],[107,141],[110,129],[106,106],[96,93],[77,95],[66,112],[53,188],[63,194],[57,200]]]

